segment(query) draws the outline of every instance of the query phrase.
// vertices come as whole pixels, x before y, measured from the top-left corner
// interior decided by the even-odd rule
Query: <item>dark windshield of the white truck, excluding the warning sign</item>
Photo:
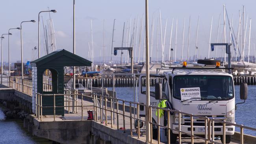
[[[173,78],[173,97],[181,100],[184,88],[200,88],[201,100],[228,100],[234,98],[234,86],[230,76],[183,75]]]

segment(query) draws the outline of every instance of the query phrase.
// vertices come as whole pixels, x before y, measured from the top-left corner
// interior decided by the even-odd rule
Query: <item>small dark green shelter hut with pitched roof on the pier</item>
[[[36,113],[36,93],[40,94],[64,94],[64,66],[91,66],[91,61],[67,50],[56,50],[31,62],[32,66],[32,110]],[[48,72],[50,70],[50,72]],[[45,79],[43,75],[48,72],[52,75],[51,89],[44,90]],[[49,85],[49,83],[48,83]],[[56,96],[56,106],[64,106],[64,96]],[[43,96],[42,105],[53,106],[53,96]],[[43,115],[53,115],[53,107],[43,108]],[[56,115],[64,116],[64,107],[56,107]]]

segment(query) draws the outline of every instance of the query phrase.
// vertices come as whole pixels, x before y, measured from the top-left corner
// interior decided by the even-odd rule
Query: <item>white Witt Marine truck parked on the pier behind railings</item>
[[[226,69],[214,60],[202,60],[197,64],[183,62],[183,65],[163,65],[158,70],[158,74],[150,75],[150,79],[157,79],[155,86],[161,85],[160,87],[162,87],[162,89],[150,87],[150,105],[158,106],[158,103],[165,99],[171,103],[174,110],[235,123],[234,81],[232,74],[225,72]],[[139,103],[146,103],[146,88],[143,79],[145,79],[145,75],[139,77]],[[247,99],[246,83],[240,84],[240,99]],[[145,117],[144,107],[140,107],[139,114],[140,117]],[[191,133],[190,116],[182,114],[181,117],[181,130]],[[171,128],[178,129],[178,113],[171,115],[170,118]],[[161,116],[161,126],[164,125],[163,121],[164,118]],[[157,122],[155,109],[152,109],[152,122]],[[195,118],[193,126],[194,135],[203,136],[205,134],[204,120]],[[226,125],[225,131],[226,143],[230,143],[235,126]],[[222,134],[222,123],[215,122],[215,136],[221,137],[221,141],[223,141]],[[171,143],[175,143],[178,132],[171,131],[170,135]],[[167,140],[163,129],[160,137],[163,142]],[[153,138],[157,138],[156,126],[153,126]]]

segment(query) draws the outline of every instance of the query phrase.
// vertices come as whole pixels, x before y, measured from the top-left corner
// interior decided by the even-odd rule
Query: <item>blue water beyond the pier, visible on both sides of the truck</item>
[[[109,87],[109,90],[112,88]],[[235,86],[236,103],[243,102],[240,100],[240,87]],[[115,87],[117,92],[117,98],[134,101],[134,88],[133,87]],[[139,92],[138,92],[139,93]],[[136,100],[136,98],[135,98]],[[235,122],[237,124],[243,124],[244,126],[256,128],[256,86],[248,85],[248,97],[245,103],[237,105],[235,114]],[[236,131],[240,131],[239,127],[236,127]],[[244,129],[244,133],[256,136],[256,131],[250,131]]]

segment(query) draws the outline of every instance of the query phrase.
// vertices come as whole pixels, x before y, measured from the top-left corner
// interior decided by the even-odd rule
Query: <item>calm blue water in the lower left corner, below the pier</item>
[[[0,144],[50,144],[48,140],[26,133],[22,124],[21,120],[6,120],[0,107]]]

